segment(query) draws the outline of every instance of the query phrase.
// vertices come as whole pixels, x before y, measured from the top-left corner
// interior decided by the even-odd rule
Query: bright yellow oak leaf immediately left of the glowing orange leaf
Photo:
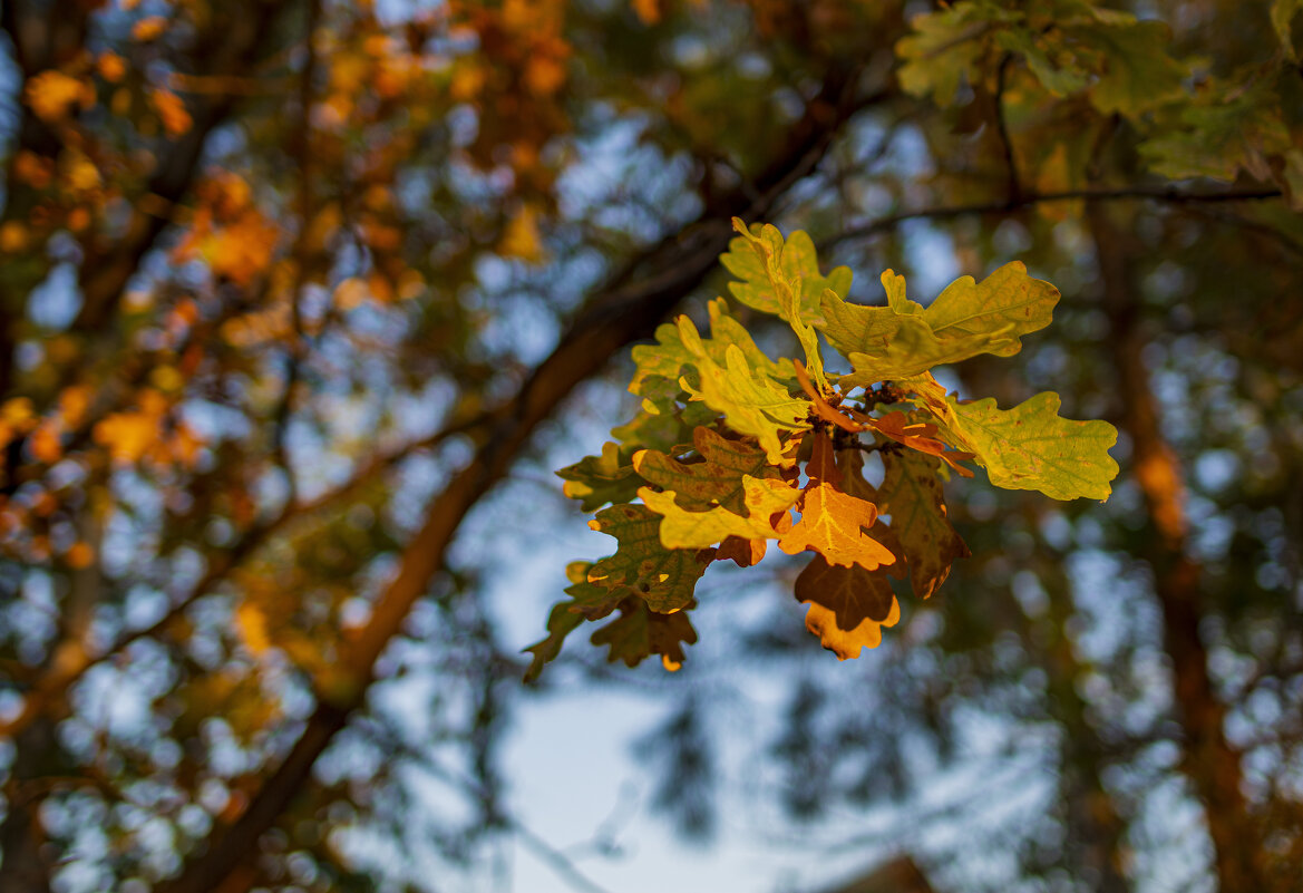
[[[731,536],[743,540],[777,540],[782,536],[770,519],[786,512],[800,498],[801,491],[783,480],[741,478],[747,491],[747,516],[715,506],[709,511],[687,511],[675,501],[674,490],[657,493],[650,488],[638,490],[648,508],[663,516],[661,545],[666,549],[705,549],[723,542]]]

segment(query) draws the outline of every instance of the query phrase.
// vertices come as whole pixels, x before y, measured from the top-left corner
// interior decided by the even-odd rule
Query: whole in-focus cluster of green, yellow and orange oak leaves
[[[659,654],[666,669],[697,639],[693,591],[715,561],[756,564],[770,540],[814,557],[796,578],[805,626],[840,658],[882,640],[900,608],[889,576],[926,598],[955,558],[968,554],[946,518],[942,480],[986,469],[992,484],[1055,499],[1105,499],[1118,472],[1117,430],[1059,417],[1059,398],[1038,394],[1012,409],[960,402],[929,372],[979,353],[1010,356],[1022,335],[1050,323],[1059,293],[1018,262],[982,282],[951,283],[925,309],[904,278],[882,274],[886,306],[848,304],[851,271],[820,275],[804,232],[783,240],[747,228],[721,257],[740,302],[795,331],[801,360],[770,360],[727,302],[710,304],[710,338],[688,317],[633,348],[629,390],[641,412],[611,432],[602,454],[558,472],[589,521],[616,538],[614,555],[568,568],[568,601],[530,647],[534,678],[584,621],[619,615],[593,632],[610,660],[629,666]],[[850,373],[825,369],[820,339]],[[882,463],[881,484],[865,463]],[[877,473],[870,477],[878,480]],[[637,502],[635,502],[637,499]],[[794,510],[800,519],[792,519]],[[902,584],[903,588],[903,584]]]

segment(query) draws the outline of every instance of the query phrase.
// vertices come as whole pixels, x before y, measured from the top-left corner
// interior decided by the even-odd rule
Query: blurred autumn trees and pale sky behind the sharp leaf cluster
[[[4,0],[0,890],[1303,889],[1298,12]],[[732,215],[1053,282],[943,379],[1114,495],[949,488],[857,661],[779,555],[525,686]]]

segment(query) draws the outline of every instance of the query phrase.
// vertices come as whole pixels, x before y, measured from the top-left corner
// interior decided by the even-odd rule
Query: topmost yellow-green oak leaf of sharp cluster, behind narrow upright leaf
[[[814,242],[804,231],[797,229],[784,242],[777,227],[766,224],[747,229],[745,224],[736,219],[734,226],[744,235],[728,242],[728,250],[719,256],[719,261],[740,280],[728,283],[728,291],[747,306],[788,318],[783,315],[774,279],[766,266],[765,254],[756,250],[757,244],[765,246],[773,257],[780,258],[779,282],[791,283],[794,279],[800,279],[800,317],[804,322],[820,318],[820,296],[825,288],[833,289],[842,297],[851,293],[851,270],[837,267],[827,276],[821,275]]]

